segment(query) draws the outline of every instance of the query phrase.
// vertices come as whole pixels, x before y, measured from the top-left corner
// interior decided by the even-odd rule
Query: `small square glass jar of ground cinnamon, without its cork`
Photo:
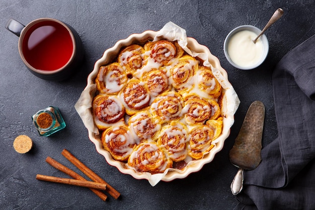
[[[33,123],[40,135],[49,136],[63,128],[65,122],[57,107],[49,106],[32,116]]]

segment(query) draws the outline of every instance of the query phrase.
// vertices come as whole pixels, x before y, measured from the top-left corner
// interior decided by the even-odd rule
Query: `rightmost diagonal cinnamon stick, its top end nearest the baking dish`
[[[92,179],[95,182],[104,183],[107,185],[106,191],[113,196],[115,199],[117,199],[120,196],[120,193],[114,189],[111,185],[109,185],[106,181],[104,181],[99,175],[94,173],[90,168],[88,168],[86,165],[84,165],[80,160],[78,160],[76,157],[74,157],[69,151],[64,149],[61,154],[68,159],[74,166],[76,166],[78,169],[80,169],[83,173],[85,173],[90,179]]]

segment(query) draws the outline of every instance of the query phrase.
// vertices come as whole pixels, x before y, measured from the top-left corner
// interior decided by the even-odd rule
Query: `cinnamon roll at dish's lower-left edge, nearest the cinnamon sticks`
[[[135,147],[135,141],[125,125],[114,126],[102,133],[102,145],[115,160],[126,161]]]

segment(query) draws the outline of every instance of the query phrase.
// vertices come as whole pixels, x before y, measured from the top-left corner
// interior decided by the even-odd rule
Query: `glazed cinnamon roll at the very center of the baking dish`
[[[161,123],[181,118],[183,107],[182,96],[173,91],[157,96],[150,106],[153,117]]]

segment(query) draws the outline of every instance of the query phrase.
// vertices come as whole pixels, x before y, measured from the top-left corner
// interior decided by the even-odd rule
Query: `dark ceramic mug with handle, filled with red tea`
[[[80,36],[59,20],[40,18],[24,26],[10,19],[6,28],[20,37],[20,56],[29,71],[41,79],[67,79],[83,60]]]

